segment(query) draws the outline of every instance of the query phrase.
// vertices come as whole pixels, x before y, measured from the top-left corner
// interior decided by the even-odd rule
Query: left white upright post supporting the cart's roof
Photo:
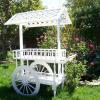
[[[23,56],[23,26],[19,25],[19,41],[20,41],[20,53],[21,58]],[[23,60],[21,59],[21,65],[23,65]]]

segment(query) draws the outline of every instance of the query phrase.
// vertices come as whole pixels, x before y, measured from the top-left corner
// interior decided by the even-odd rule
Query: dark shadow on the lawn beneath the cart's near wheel
[[[0,100],[52,100],[52,91],[43,85],[38,95],[28,97],[17,94],[13,87],[0,87]]]

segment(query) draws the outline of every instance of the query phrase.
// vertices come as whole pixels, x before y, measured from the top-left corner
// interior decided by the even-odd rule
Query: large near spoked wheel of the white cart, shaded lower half
[[[36,95],[40,89],[38,77],[27,66],[19,66],[15,69],[12,77],[14,90],[21,95]]]

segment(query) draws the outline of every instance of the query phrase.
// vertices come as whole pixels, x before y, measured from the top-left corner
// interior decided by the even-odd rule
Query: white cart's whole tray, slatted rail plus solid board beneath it
[[[23,49],[13,51],[14,59],[66,63],[66,49]],[[21,56],[21,53],[23,54]]]

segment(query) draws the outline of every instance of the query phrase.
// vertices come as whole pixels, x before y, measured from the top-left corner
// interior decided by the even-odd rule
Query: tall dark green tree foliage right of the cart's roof
[[[77,33],[99,43],[100,0],[68,0],[68,7]]]

